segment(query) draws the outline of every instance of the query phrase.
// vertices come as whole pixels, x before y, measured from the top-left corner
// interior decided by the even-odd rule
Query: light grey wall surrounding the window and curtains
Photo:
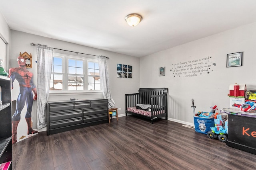
[[[37,82],[36,74],[37,74],[37,63],[36,63],[36,47],[32,47],[30,43],[40,43],[42,45],[48,45],[49,47],[54,47],[57,49],[65,49],[68,51],[76,51],[80,53],[86,53],[91,55],[104,55],[106,57],[110,57],[108,59],[108,71],[109,71],[109,79],[110,79],[110,88],[112,97],[116,103],[115,107],[122,108],[122,110],[118,111],[118,114],[125,113],[125,94],[138,92],[139,89],[139,67],[140,60],[137,57],[132,57],[128,55],[122,55],[118,53],[113,53],[109,51],[104,51],[100,49],[95,49],[91,47],[86,47],[82,45],[77,45],[74,43],[68,43],[65,41],[59,41],[56,39],[50,39],[46,37],[41,37],[38,35],[32,35],[29,33],[24,33],[20,31],[11,30],[11,41],[12,41],[12,49],[11,49],[11,58],[10,58],[10,68],[17,67],[18,63],[16,61],[20,52],[32,54],[32,65],[33,68],[28,68],[30,72],[32,72],[35,76],[34,81]],[[76,55],[76,53],[64,52],[60,50],[54,50],[56,53],[65,53],[69,55]],[[86,55],[80,55],[84,57],[91,57]],[[96,57],[94,57],[96,59]],[[132,66],[132,78],[117,78],[116,76],[116,64],[128,64]],[[54,100],[70,100],[70,98],[76,99],[92,99],[92,98],[103,98],[101,94],[71,94],[71,95],[50,95],[49,101]],[[16,100],[16,99],[14,99]],[[32,118],[36,117],[36,102],[34,101],[33,109],[32,109]],[[34,121],[34,125],[36,122]],[[35,128],[35,127],[34,127]]]

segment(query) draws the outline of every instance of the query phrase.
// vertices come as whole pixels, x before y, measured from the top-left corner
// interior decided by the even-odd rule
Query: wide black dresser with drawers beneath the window
[[[47,102],[47,135],[108,123],[108,99]]]

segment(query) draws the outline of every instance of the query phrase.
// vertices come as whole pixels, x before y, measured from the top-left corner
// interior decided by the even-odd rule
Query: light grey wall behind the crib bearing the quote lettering
[[[230,84],[246,84],[256,89],[256,23],[244,25],[210,37],[199,39],[159,53],[140,58],[140,87],[169,88],[168,119],[194,125],[192,98],[196,112],[209,112],[210,106],[229,107]],[[242,66],[226,67],[227,54],[243,52]],[[209,74],[174,77],[172,64],[209,58]],[[213,64],[216,64],[214,66]],[[184,65],[184,64],[183,64]],[[166,75],[158,76],[158,68],[166,67]],[[170,71],[171,70],[171,71]],[[218,112],[218,111],[217,111]]]

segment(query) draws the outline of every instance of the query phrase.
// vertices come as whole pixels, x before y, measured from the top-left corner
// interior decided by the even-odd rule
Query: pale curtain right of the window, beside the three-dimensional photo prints
[[[98,56],[98,63],[100,69],[100,86],[102,88],[103,97],[108,99],[108,108],[114,108],[115,102],[111,97],[109,80],[108,80],[108,66],[107,58],[105,56]]]

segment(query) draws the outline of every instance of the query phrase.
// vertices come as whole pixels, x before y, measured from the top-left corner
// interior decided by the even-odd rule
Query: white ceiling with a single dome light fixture
[[[256,22],[256,0],[0,0],[0,12],[13,30],[143,57]]]

